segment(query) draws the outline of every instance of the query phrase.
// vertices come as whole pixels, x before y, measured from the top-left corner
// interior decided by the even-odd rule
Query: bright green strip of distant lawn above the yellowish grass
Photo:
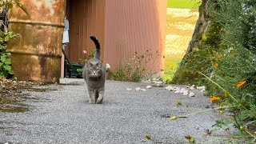
[[[167,0],[167,7],[179,9],[198,9],[201,0]]]

